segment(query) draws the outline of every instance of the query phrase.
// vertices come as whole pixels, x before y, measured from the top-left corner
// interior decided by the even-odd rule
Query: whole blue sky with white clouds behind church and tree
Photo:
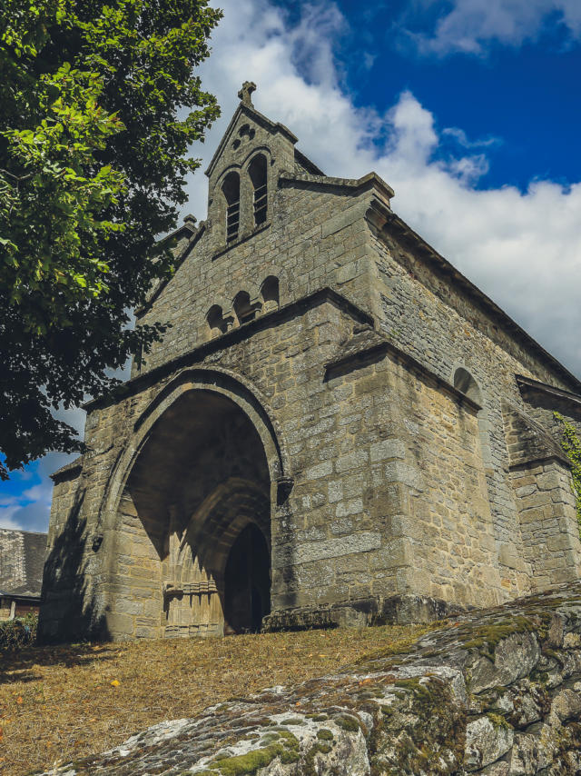
[[[328,174],[376,170],[394,210],[581,376],[581,2],[226,0],[202,65],[222,119],[192,149],[184,208],[237,103],[287,124]],[[81,410],[62,414],[82,433]],[[0,483],[0,526],[45,530],[51,453]]]

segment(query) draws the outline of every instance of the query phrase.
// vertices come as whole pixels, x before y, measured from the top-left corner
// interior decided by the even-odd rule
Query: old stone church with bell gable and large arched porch
[[[45,642],[426,621],[581,571],[581,383],[254,88],[136,313],[162,342],[53,475]]]

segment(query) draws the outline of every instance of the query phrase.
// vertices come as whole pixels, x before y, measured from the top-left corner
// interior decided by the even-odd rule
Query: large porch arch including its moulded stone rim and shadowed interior
[[[192,368],[168,383],[134,423],[103,504],[102,552],[111,581],[104,603],[107,616],[117,618],[113,632],[120,632],[128,606],[156,609],[159,635],[252,630],[258,610],[268,613],[271,522],[291,483],[286,445],[270,412],[240,378]],[[249,537],[263,537],[253,551],[262,559],[261,593],[229,625],[226,563],[248,526],[254,527],[244,534],[246,543],[239,543],[252,549]],[[241,594],[257,590],[250,577],[246,586],[239,583]]]

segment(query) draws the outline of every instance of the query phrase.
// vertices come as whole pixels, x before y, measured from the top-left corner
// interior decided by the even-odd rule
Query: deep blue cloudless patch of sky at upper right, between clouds
[[[345,83],[358,105],[379,112],[409,89],[442,126],[461,127],[469,138],[489,139],[490,167],[478,186],[514,184],[532,177],[563,184],[581,179],[576,153],[581,123],[581,47],[560,25],[547,25],[536,42],[520,46],[491,41],[481,55],[419,56],[405,38],[389,38],[389,11],[369,25],[350,12],[353,32],[345,59]],[[548,22],[548,19],[547,19]],[[358,62],[372,52],[366,71]],[[386,74],[390,74],[388,78]]]

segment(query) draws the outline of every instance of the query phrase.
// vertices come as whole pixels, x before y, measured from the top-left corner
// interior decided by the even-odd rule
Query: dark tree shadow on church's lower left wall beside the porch
[[[103,614],[97,614],[94,595],[88,594],[86,575],[86,520],[81,517],[84,488],[74,497],[66,524],[44,562],[43,592],[38,621],[38,643],[111,639]]]

